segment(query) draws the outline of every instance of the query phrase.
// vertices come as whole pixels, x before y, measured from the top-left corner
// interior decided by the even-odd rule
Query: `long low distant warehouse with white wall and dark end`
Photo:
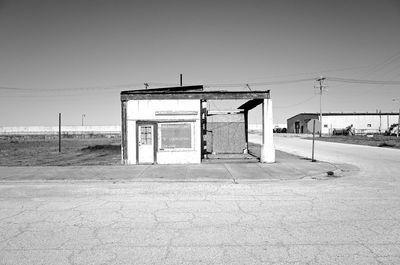
[[[311,119],[319,120],[319,113],[300,113],[287,120],[288,133],[312,133],[307,128]],[[390,125],[397,123],[398,113],[322,113],[322,133],[332,134],[333,130],[353,125],[356,134],[384,133]],[[316,128],[319,132],[319,128]]]

